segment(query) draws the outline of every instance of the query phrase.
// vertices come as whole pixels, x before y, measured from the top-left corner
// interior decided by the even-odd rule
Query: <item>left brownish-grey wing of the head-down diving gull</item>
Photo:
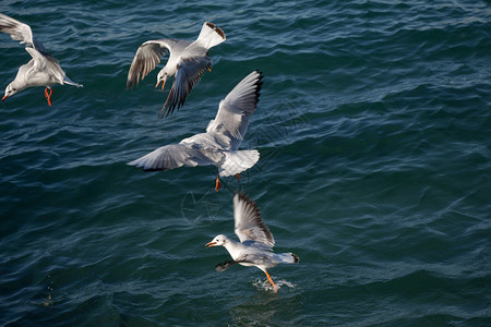
[[[160,62],[161,57],[166,51],[170,51],[172,46],[177,43],[175,39],[157,39],[143,43],[131,63],[128,72],[127,88],[139,85],[140,76],[142,80],[152,72]]]

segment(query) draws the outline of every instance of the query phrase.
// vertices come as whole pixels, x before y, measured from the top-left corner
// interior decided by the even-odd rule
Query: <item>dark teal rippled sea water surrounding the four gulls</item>
[[[490,326],[489,1],[14,1],[68,76],[0,105],[2,326]],[[179,112],[170,83],[133,90],[137,47],[227,40]],[[164,59],[164,61],[167,57]],[[0,35],[0,87],[28,53]],[[159,65],[161,68],[164,63]],[[213,166],[125,162],[203,132],[264,72],[242,148],[261,159],[214,191]],[[232,194],[258,203],[299,265],[215,265]]]

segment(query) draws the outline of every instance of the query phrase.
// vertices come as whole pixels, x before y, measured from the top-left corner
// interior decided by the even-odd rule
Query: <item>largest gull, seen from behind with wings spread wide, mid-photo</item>
[[[239,150],[249,125],[249,119],[258,107],[263,75],[253,71],[220,101],[218,112],[209,121],[206,133],[195,134],[179,144],[159,147],[128,165],[145,171],[170,170],[187,166],[215,165],[218,168],[215,191],[221,186],[220,177],[236,174],[258,162],[258,150]]]

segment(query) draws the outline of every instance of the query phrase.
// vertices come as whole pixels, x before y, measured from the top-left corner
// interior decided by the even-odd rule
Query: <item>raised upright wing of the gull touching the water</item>
[[[273,247],[275,239],[267,226],[261,219],[261,213],[255,203],[243,193],[233,196],[233,220],[236,234],[240,242],[255,242]]]

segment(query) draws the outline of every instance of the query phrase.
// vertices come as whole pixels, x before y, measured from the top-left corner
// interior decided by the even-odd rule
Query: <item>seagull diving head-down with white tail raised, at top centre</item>
[[[132,88],[134,84],[137,86],[140,75],[143,80],[160,62],[164,53],[169,51],[167,64],[158,72],[155,85],[158,87],[163,83],[161,89],[164,89],[167,78],[175,76],[172,87],[160,111],[159,119],[161,119],[173,112],[176,107],[179,110],[206,69],[212,71],[208,49],[221,44],[225,39],[221,28],[205,22],[194,41],[173,38],[147,40],[139,47],[133,58],[128,72],[127,88]]]

